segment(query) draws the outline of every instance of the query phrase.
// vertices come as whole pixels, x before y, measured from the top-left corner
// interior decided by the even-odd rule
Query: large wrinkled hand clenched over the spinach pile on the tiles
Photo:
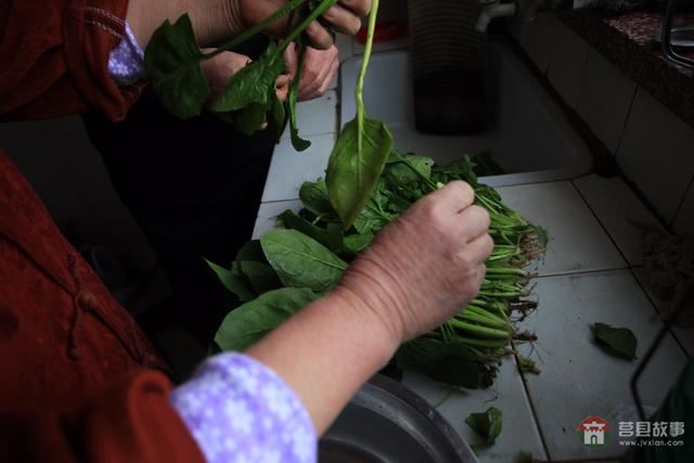
[[[337,286],[372,311],[397,345],[426,333],[478,293],[493,248],[489,215],[465,182],[416,202],[383,229]]]

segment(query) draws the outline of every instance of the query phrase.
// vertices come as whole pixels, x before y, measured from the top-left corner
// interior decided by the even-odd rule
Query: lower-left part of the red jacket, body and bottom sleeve
[[[164,361],[0,152],[0,461],[202,462]]]

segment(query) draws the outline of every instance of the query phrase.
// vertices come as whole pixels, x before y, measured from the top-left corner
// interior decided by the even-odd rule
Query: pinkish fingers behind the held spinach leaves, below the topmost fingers
[[[296,78],[298,68],[298,54],[296,43],[291,43],[284,52],[287,74],[292,80]],[[330,83],[339,66],[339,52],[337,47],[331,46],[327,50],[317,50],[308,47],[304,61],[304,75],[299,82],[298,101],[307,101],[325,94]]]

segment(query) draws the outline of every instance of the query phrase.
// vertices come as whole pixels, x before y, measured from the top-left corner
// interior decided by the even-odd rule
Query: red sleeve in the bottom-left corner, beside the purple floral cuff
[[[0,412],[0,461],[203,463],[200,448],[168,403],[158,372],[125,376],[79,410],[30,406]]]

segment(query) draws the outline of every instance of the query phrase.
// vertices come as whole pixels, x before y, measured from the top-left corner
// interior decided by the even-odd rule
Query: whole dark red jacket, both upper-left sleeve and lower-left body
[[[127,7],[0,0],[0,120],[125,117],[141,88],[106,65]],[[162,370],[0,152],[0,462],[203,462]]]

